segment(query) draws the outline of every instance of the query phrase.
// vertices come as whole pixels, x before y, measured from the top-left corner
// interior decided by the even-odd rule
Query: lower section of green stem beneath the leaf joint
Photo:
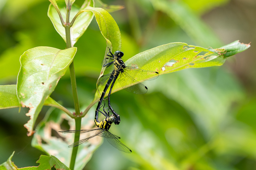
[[[76,117],[75,123],[76,123],[76,130],[80,130],[81,129],[81,117]],[[75,133],[74,141],[75,142],[79,141],[79,138],[80,138],[80,133]],[[78,150],[78,147],[73,147],[69,169],[73,170],[75,167],[77,150]]]

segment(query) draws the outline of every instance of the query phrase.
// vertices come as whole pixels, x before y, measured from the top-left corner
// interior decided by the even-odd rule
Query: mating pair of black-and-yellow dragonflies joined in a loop
[[[119,77],[118,82],[120,83],[120,85],[123,87],[124,90],[128,92],[132,92],[134,94],[144,94],[148,91],[148,88],[142,83],[140,83],[139,81],[154,80],[159,76],[159,73],[156,71],[148,71],[148,70],[138,69],[135,67],[125,66],[124,61],[122,60],[122,56],[124,56],[124,53],[121,51],[115,51],[115,53],[112,54],[109,48],[109,52],[107,56],[109,58],[105,58],[105,63],[103,62],[104,63],[103,67],[105,67],[104,73],[107,72],[108,74],[102,75],[97,81],[98,86],[105,86],[103,92],[101,93],[100,100],[95,110],[94,122],[98,127],[98,129],[68,130],[68,131],[60,131],[60,132],[61,133],[85,133],[85,132],[96,130],[94,135],[87,137],[85,139],[79,140],[74,144],[69,145],[68,147],[78,146],[92,137],[100,136],[100,137],[107,138],[107,141],[118,150],[126,153],[131,153],[132,151],[118,140],[120,139],[120,137],[108,131],[113,122],[115,124],[120,123],[120,116],[114,111],[114,109],[110,105],[110,94],[111,94],[112,88],[116,82],[116,79]],[[110,62],[107,63],[106,59],[109,59]],[[139,81],[137,81],[136,79]],[[110,89],[108,92],[108,107],[107,107],[108,113],[105,111],[105,109],[107,109],[107,108],[104,108],[105,104],[103,106],[103,112],[101,112],[100,108],[102,107],[102,100],[104,99],[104,96],[109,86],[110,86]],[[98,120],[99,112],[102,113],[104,116],[106,116],[106,118],[101,122]],[[109,112],[112,112],[112,115],[109,115]]]

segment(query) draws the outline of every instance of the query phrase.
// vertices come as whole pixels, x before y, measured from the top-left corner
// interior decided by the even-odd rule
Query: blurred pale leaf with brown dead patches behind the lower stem
[[[89,111],[89,113],[82,119],[81,129],[97,128],[92,117],[94,117],[93,110]],[[68,148],[68,145],[74,143],[74,134],[63,134],[58,132],[69,129],[75,129],[74,119],[71,119],[67,114],[58,109],[50,108],[43,121],[37,125],[31,145],[48,155],[54,155],[64,164],[69,165],[72,148]],[[86,138],[92,134],[93,133],[81,134],[80,139],[83,139],[83,137]],[[102,140],[103,138],[101,137],[93,137],[84,144],[79,145],[75,169],[83,169],[85,164],[91,159],[92,153],[102,143]]]

